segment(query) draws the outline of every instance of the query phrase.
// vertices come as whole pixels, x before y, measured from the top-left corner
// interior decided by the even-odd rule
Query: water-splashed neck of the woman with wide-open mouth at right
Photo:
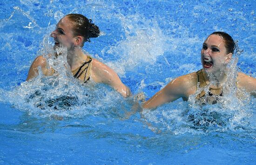
[[[227,71],[222,71],[218,73],[208,73],[204,69],[202,70],[203,78],[205,80],[205,83],[209,85],[210,83],[213,83],[211,85],[211,88],[218,89],[221,88],[222,85],[227,81]]]

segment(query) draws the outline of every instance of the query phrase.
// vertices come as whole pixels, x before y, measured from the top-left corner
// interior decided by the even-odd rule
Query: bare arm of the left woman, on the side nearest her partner
[[[92,61],[91,78],[97,83],[105,83],[112,86],[123,97],[131,95],[130,89],[121,82],[117,73],[97,59]]]

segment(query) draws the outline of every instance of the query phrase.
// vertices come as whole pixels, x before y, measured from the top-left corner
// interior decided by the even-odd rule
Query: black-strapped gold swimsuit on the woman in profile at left
[[[76,70],[72,71],[74,78],[80,79],[82,82],[86,83],[90,79],[92,60],[92,57],[87,56],[85,62]]]

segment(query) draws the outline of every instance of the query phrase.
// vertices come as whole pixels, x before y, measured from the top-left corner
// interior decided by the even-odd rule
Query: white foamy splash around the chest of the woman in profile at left
[[[39,54],[47,59],[48,67],[54,68],[56,71],[54,75],[45,77],[39,69],[39,75],[35,79],[21,83],[13,91],[3,91],[1,93],[3,102],[11,103],[32,116],[56,119],[80,118],[94,114],[109,116],[113,112],[106,110],[115,106],[117,109],[121,107],[127,109],[124,108],[127,103],[123,103],[124,99],[121,95],[110,87],[91,81],[82,85],[74,79],[67,64],[65,47],[56,49],[58,54],[61,53],[56,58],[50,55],[55,54],[55,51],[48,36],[43,40],[42,46]],[[105,104],[106,102],[108,105]],[[121,112],[117,112],[117,116],[118,113]]]

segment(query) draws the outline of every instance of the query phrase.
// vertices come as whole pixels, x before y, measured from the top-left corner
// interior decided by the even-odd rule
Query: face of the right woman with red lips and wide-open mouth
[[[219,35],[209,35],[203,42],[201,50],[202,67],[208,72],[219,72],[225,69],[226,64],[232,57],[232,53],[227,54],[225,42]]]

